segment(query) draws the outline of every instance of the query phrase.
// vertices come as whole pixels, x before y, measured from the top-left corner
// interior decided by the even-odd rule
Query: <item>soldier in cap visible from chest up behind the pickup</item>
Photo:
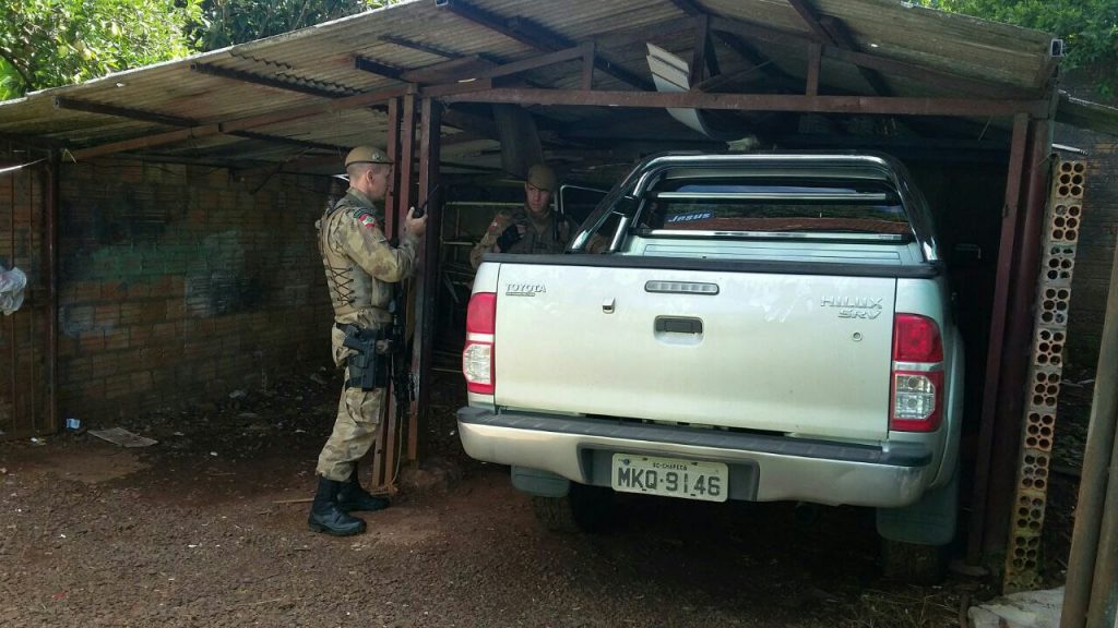
[[[578,231],[575,221],[560,216],[551,207],[556,189],[555,172],[538,163],[528,171],[524,181],[524,207],[499,211],[482,240],[470,251],[470,264],[476,269],[486,253],[562,253]]]

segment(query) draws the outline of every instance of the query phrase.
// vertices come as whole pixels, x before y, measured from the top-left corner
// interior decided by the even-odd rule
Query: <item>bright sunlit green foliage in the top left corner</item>
[[[190,54],[200,0],[16,0],[0,4],[0,99]]]

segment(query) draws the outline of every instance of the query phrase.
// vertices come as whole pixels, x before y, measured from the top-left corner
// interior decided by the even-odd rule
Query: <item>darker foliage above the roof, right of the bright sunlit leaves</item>
[[[203,0],[192,27],[199,50],[216,50],[360,13],[399,0]]]

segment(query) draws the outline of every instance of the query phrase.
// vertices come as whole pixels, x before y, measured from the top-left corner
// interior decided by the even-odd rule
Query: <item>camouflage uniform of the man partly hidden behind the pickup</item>
[[[556,211],[551,211],[541,222],[532,220],[527,207],[514,211],[499,211],[482,240],[470,251],[470,264],[477,268],[482,256],[496,248],[500,248],[499,253],[562,253],[577,232],[575,221]],[[512,245],[506,245],[509,239],[513,240]]]

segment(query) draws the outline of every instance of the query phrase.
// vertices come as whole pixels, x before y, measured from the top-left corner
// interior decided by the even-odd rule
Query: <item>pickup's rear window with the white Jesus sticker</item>
[[[874,181],[669,179],[645,194],[637,221],[646,232],[911,234],[897,193]]]

